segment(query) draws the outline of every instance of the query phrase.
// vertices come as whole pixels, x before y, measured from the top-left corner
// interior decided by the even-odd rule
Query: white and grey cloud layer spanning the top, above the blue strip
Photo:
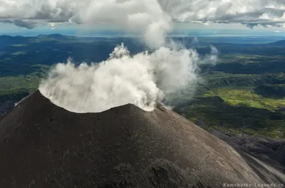
[[[150,33],[171,28],[171,19],[283,26],[284,12],[284,0],[0,0],[1,21],[27,28],[46,21],[109,22]]]

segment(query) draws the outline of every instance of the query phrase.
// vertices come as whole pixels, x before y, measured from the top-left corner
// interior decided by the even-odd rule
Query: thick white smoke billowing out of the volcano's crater
[[[165,93],[197,81],[199,61],[192,49],[162,47],[151,54],[130,56],[122,44],[101,63],[59,63],[39,89],[56,105],[76,113],[101,112],[128,103],[150,111]]]

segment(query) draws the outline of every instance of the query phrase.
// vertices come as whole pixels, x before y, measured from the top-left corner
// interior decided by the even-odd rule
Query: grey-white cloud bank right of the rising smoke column
[[[278,0],[161,0],[162,6],[177,21],[212,21],[214,23],[284,22],[285,1]]]

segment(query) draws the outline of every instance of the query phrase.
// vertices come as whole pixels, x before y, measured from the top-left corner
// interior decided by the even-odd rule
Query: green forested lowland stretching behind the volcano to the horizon
[[[191,40],[181,39],[185,46]],[[166,103],[206,130],[285,138],[285,41],[254,40],[202,38],[197,51],[209,53],[212,44],[219,61],[200,65],[203,81],[196,90],[168,95]],[[78,63],[100,62],[121,42],[132,53],[145,49],[130,38],[0,36],[0,42],[0,105],[36,90],[48,69],[68,57]]]

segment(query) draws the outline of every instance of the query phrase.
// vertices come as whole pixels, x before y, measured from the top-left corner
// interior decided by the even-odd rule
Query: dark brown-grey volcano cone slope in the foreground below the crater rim
[[[232,147],[162,106],[76,114],[37,91],[0,117],[0,137],[0,187],[264,182]]]

